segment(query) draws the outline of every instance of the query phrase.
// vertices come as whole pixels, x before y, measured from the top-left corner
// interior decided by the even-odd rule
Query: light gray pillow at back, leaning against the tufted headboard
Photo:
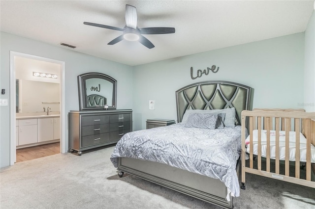
[[[224,126],[235,127],[235,107],[226,109],[187,109],[183,115],[182,123],[185,124],[189,114],[191,113],[202,113],[202,114],[219,114],[225,113]]]

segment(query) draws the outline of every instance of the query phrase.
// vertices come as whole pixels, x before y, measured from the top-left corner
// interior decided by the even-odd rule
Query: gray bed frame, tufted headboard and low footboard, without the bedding
[[[193,83],[176,91],[177,119],[182,121],[186,109],[235,107],[237,121],[241,124],[241,112],[250,108],[250,98],[251,87],[242,84],[228,81]],[[158,162],[127,157],[118,159],[117,169],[120,177],[126,172],[222,208],[232,208],[230,192],[220,180]]]

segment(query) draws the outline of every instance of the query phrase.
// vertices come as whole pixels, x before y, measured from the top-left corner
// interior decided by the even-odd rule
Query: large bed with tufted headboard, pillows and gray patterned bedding
[[[177,90],[178,123],[125,134],[111,156],[118,175],[122,177],[126,172],[222,208],[232,208],[233,196],[239,195],[241,112],[250,109],[250,98],[251,87],[227,81],[198,82]],[[215,117],[209,123],[215,129],[199,129],[199,124],[185,127],[191,118],[202,116],[204,111],[212,119]],[[220,120],[226,127],[219,128]],[[140,149],[142,144],[145,146]],[[209,149],[204,151],[200,147]],[[202,153],[212,153],[220,163]]]

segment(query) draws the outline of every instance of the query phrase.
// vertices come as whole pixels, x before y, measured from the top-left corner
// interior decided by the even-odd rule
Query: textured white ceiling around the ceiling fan
[[[139,42],[108,42],[125,26],[125,5],[137,8],[138,27],[175,27]],[[1,0],[1,31],[135,66],[305,31],[314,0]],[[75,49],[61,43],[76,46]]]

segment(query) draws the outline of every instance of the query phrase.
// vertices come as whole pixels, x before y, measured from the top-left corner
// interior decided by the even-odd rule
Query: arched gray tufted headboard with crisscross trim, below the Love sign
[[[193,83],[176,91],[177,122],[186,109],[223,109],[235,107],[241,124],[241,112],[249,110],[251,87],[228,81]]]

